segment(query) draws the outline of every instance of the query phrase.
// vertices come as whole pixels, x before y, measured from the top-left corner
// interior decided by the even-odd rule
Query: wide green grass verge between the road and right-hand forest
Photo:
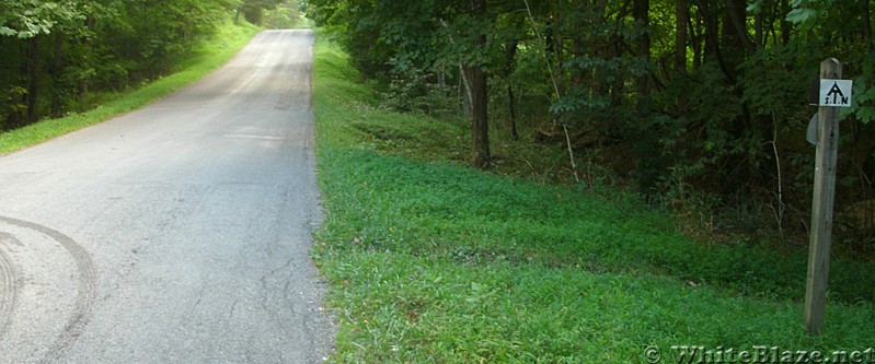
[[[870,265],[833,265],[827,326],[802,324],[804,253],[690,242],[621,191],[453,165],[465,126],[381,110],[316,40],[314,109],[338,363],[640,363],[645,349],[865,350]],[[438,155],[446,151],[448,155]],[[779,356],[780,357],[780,356]]]

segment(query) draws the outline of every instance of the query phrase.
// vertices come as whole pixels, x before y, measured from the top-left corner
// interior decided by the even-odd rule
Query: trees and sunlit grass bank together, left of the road
[[[0,153],[141,107],[262,27],[300,23],[283,0],[0,0]]]

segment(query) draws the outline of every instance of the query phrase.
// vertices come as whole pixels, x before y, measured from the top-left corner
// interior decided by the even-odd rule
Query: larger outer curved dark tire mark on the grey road
[[[85,324],[88,324],[88,316],[91,312],[91,306],[97,298],[97,274],[96,270],[94,269],[94,263],[91,260],[91,255],[89,255],[88,250],[76,243],[76,240],[54,228],[8,216],[0,216],[0,222],[19,227],[30,228],[50,237],[51,239],[58,242],[58,244],[60,244],[60,246],[67,250],[76,263],[77,270],[79,271],[79,287],[73,313],[70,319],[67,321],[64,330],[58,336],[54,347],[48,351],[48,355],[51,357],[45,357],[45,360],[48,361],[60,361],[64,357],[66,350],[82,333],[83,327]]]

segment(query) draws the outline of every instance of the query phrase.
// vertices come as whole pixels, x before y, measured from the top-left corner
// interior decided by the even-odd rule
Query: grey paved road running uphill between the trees
[[[0,156],[0,363],[321,362],[312,42]]]

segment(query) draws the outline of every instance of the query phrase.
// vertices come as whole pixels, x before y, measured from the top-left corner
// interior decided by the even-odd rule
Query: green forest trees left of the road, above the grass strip
[[[0,131],[160,78],[219,26],[274,21],[285,2],[0,0]]]

